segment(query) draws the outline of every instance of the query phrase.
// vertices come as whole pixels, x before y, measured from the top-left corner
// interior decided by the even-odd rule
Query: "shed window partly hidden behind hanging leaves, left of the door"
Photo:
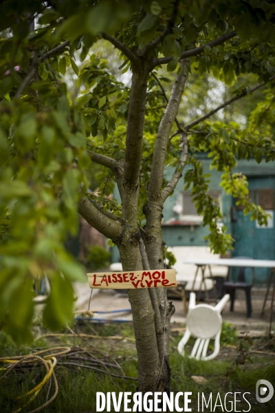
[[[219,207],[221,208],[221,191],[209,191],[208,194],[219,203]],[[179,215],[180,220],[188,222],[202,222],[203,217],[202,215],[197,214],[195,202],[192,202],[191,192],[181,193],[180,203],[182,206],[182,212]]]

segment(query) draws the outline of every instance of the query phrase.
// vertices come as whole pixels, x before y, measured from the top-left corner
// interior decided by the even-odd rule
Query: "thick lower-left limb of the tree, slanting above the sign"
[[[118,221],[114,221],[98,211],[86,197],[81,198],[78,204],[78,212],[88,224],[94,226],[95,229],[106,237],[111,238],[111,240],[115,240],[122,231],[122,226]]]

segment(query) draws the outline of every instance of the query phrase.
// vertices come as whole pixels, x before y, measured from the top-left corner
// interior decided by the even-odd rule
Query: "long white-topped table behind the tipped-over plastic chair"
[[[212,273],[211,273],[211,265],[223,265],[223,266],[232,266],[232,267],[250,267],[250,268],[270,268],[270,278],[268,280],[268,286],[267,286],[267,291],[265,293],[265,300],[263,302],[263,310],[261,312],[261,314],[263,315],[263,312],[265,310],[265,304],[267,301],[267,296],[268,293],[270,291],[270,286],[272,284],[272,278],[274,278],[273,280],[273,288],[272,288],[272,302],[271,302],[271,307],[270,307],[270,326],[269,326],[269,335],[271,333],[271,328],[272,328],[272,313],[273,313],[273,304],[274,304],[274,298],[275,298],[275,261],[273,260],[244,260],[244,259],[234,259],[234,258],[230,258],[230,259],[226,259],[226,258],[221,258],[220,260],[199,260],[197,258],[189,258],[188,260],[184,260],[184,264],[195,264],[197,266],[197,271],[195,273],[195,278],[194,278],[194,282],[193,282],[193,286],[195,285],[195,279],[197,277],[197,273],[199,272],[199,268],[201,269],[201,275],[202,275],[202,279],[201,279],[201,286],[202,283],[205,284],[205,269],[206,266],[208,266],[209,271],[210,271],[210,277],[212,277]],[[213,279],[214,282],[214,279]],[[200,290],[201,290],[201,286],[200,286]]]

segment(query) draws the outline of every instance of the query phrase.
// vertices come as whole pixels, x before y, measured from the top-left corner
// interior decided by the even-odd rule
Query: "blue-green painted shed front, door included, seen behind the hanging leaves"
[[[205,154],[199,154],[198,158],[203,161],[203,172],[211,173],[210,190],[222,191],[220,187],[221,173],[217,173],[215,170],[210,170],[210,160]],[[186,173],[188,169],[184,170]],[[174,169],[168,167],[165,170],[166,179],[169,179],[173,175]],[[260,185],[262,188],[273,187],[275,189],[275,167],[274,162],[268,162],[258,165],[256,160],[250,161],[241,160],[238,162],[234,172],[242,172],[245,176],[248,176],[250,187],[254,189],[254,185]],[[259,179],[261,180],[259,184]],[[177,219],[177,215],[173,212],[175,202],[179,200],[180,194],[184,192],[184,179],[181,178],[177,187],[164,204],[164,221],[167,222],[170,218]],[[274,191],[275,192],[275,191]],[[120,200],[118,189],[115,188],[114,197]],[[232,233],[236,237],[234,244],[233,256],[244,255],[248,257],[254,257],[256,259],[269,259],[275,260],[275,229],[256,229],[255,222],[250,220],[250,216],[243,217],[242,211],[235,211],[235,218],[239,222],[239,229],[236,229],[236,224],[231,222],[232,215],[232,197],[231,195],[225,195],[222,192],[222,222],[228,229],[228,233]],[[208,228],[203,227],[202,224],[194,226],[179,226],[179,225],[164,225],[162,226],[164,242],[167,246],[206,246],[207,242],[204,237],[208,235]],[[270,233],[268,232],[270,231]],[[273,231],[273,232],[272,232]],[[270,234],[270,235],[269,235]],[[118,248],[113,248],[113,262],[119,260]],[[247,271],[248,279],[250,278],[251,271]],[[267,281],[269,271],[265,268],[257,269],[256,283],[263,284]],[[236,273],[235,273],[236,275]]]

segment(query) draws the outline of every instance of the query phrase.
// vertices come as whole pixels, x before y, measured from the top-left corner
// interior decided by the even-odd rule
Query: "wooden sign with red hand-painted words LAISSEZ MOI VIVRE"
[[[126,273],[89,273],[89,286],[91,288],[153,288],[176,287],[175,270],[150,270],[132,271]]]

